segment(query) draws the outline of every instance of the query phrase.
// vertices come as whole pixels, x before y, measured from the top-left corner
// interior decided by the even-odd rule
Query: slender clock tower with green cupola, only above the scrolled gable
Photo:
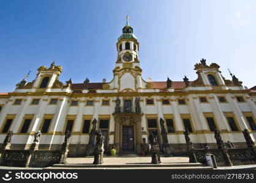
[[[133,67],[139,66],[139,43],[134,35],[134,29],[129,24],[129,16],[126,16],[126,25],[122,28],[122,35],[118,38],[116,48],[118,51],[116,66],[122,68],[126,63],[130,63]]]

